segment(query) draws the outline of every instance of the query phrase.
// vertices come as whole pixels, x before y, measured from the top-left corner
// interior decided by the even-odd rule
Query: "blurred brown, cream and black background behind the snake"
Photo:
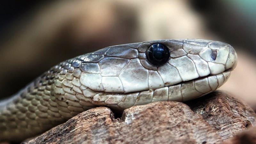
[[[222,90],[256,110],[256,1],[2,1],[0,93],[12,95],[59,62],[110,45],[200,38],[231,44],[238,65]]]

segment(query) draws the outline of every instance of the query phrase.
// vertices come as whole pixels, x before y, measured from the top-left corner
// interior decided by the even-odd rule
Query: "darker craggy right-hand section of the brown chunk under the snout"
[[[216,91],[200,99],[187,102],[190,108],[201,114],[226,140],[256,124],[256,114],[246,103],[227,93]]]

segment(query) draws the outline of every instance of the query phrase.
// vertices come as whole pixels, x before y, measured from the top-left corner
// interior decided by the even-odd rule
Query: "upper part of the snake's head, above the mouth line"
[[[217,41],[156,40],[124,44],[87,55],[80,80],[95,91],[138,92],[217,75],[235,68],[236,60],[234,48]]]

